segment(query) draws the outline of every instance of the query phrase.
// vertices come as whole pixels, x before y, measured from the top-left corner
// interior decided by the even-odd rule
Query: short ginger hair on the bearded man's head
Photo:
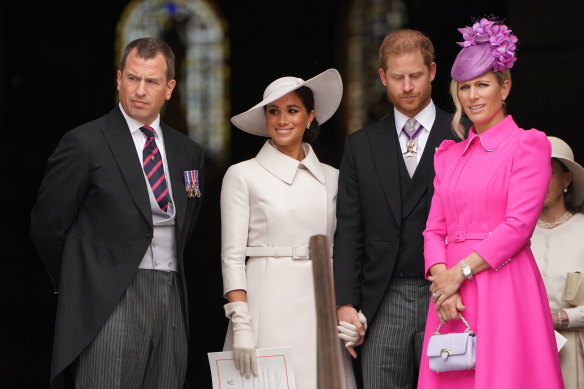
[[[411,53],[415,50],[420,50],[426,66],[430,66],[434,62],[434,45],[430,38],[422,32],[409,29],[392,32],[383,39],[383,43],[379,46],[379,67],[386,71],[388,56]]]

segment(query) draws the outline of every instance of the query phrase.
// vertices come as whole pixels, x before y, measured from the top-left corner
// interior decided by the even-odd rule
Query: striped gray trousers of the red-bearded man
[[[417,387],[429,286],[422,278],[390,281],[361,347],[365,389]]]

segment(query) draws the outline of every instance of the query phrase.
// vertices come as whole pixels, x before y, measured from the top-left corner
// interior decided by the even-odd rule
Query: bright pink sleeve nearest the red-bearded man
[[[440,182],[444,172],[444,163],[447,158],[446,151],[456,144],[453,140],[445,140],[440,144],[434,154],[434,196],[426,229],[424,230],[424,260],[426,277],[430,275],[429,270],[438,263],[446,264],[446,219],[442,210]]]

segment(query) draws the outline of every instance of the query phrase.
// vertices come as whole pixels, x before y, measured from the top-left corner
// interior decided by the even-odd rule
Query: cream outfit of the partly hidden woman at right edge
[[[584,306],[562,300],[569,272],[584,273],[584,214],[576,213],[552,229],[536,227],[531,249],[541,271],[551,312],[566,311],[567,329],[558,330],[568,342],[560,350],[566,389],[584,388]]]

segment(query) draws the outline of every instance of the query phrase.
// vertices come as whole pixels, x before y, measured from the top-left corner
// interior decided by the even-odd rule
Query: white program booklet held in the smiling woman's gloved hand
[[[213,389],[296,389],[289,347],[259,348],[258,376],[242,377],[232,351],[208,353]]]

